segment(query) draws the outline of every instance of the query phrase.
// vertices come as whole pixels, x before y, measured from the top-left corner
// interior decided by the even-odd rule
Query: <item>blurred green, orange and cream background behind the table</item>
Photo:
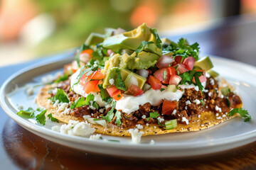
[[[255,0],[1,0],[0,66],[80,46],[105,27],[132,30],[142,23],[160,35],[215,28],[223,18],[256,17]]]

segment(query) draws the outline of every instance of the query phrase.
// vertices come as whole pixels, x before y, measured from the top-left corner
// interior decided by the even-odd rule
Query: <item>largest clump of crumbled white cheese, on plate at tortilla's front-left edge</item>
[[[61,125],[60,133],[87,137],[95,132],[95,128],[91,128],[87,122],[79,122],[75,120],[69,120],[68,125]]]

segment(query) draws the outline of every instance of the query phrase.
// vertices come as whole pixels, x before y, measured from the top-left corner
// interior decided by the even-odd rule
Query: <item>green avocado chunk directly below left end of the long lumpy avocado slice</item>
[[[122,91],[126,91],[126,87],[124,85],[124,81],[122,80],[121,73],[119,68],[113,67],[108,70],[107,75],[103,81],[103,88],[106,89],[108,86],[114,85],[117,89]]]

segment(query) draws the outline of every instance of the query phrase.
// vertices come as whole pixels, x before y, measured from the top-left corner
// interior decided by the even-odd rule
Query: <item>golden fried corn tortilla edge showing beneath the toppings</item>
[[[48,111],[46,114],[53,114],[54,118],[57,118],[63,123],[68,123],[69,120],[79,120],[80,122],[85,121],[83,118],[76,118],[73,115],[65,115],[58,111],[58,108],[54,108],[52,103],[49,103],[48,98],[50,98],[50,94],[48,91],[50,90],[51,86],[45,86],[38,94],[36,98],[36,103],[39,107],[47,108]],[[235,117],[234,115],[233,117]],[[200,117],[200,118],[198,118]],[[178,123],[178,127],[171,130],[166,130],[163,126],[160,125],[152,125],[149,124],[148,126],[144,125],[144,128],[140,131],[144,132],[145,135],[160,135],[166,134],[170,132],[190,132],[190,131],[198,131],[204,130],[206,128],[213,127],[214,125],[218,125],[219,123],[223,123],[230,118],[226,116],[225,118],[218,119],[215,113],[211,111],[206,111],[201,113],[200,116],[196,116],[191,118],[191,121],[188,125]],[[92,128],[95,128],[95,132],[105,135],[112,135],[112,136],[131,136],[128,129],[120,128],[116,125],[112,125],[107,123],[107,128],[103,127],[102,125],[91,124]]]

